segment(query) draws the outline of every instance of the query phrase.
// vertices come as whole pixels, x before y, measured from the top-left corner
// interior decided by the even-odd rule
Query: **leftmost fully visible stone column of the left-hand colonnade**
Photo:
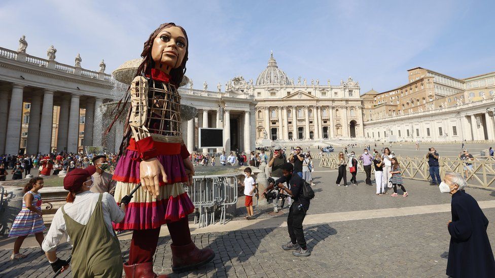
[[[22,95],[24,86],[14,84],[10,97],[9,120],[7,123],[6,154],[18,154],[21,139]],[[5,121],[5,119],[4,119]]]

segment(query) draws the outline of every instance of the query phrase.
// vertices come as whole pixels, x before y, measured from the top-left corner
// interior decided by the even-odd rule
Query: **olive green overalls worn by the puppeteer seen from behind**
[[[86,225],[70,218],[62,207],[63,219],[72,249],[74,277],[122,277],[122,252],[117,236],[110,234],[103,220],[103,194]]]

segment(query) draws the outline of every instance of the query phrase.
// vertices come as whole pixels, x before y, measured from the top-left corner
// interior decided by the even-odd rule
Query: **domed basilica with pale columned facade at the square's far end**
[[[272,53],[256,83],[238,76],[227,83],[230,91],[256,100],[251,125],[257,144],[263,139],[310,142],[364,136],[360,87],[351,77],[339,85],[302,77],[295,82],[277,66]]]

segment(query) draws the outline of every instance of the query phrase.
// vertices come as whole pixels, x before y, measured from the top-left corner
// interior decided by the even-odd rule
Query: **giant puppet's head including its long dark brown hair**
[[[175,23],[163,23],[151,33],[137,68],[136,76],[149,73],[152,68],[168,72],[170,83],[179,86],[186,72],[189,41],[187,33]]]

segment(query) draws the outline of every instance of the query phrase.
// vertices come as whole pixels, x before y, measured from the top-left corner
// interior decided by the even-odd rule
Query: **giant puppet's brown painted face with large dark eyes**
[[[155,68],[169,73],[172,68],[178,68],[186,55],[186,36],[181,28],[172,26],[161,30],[153,41],[151,57]]]

